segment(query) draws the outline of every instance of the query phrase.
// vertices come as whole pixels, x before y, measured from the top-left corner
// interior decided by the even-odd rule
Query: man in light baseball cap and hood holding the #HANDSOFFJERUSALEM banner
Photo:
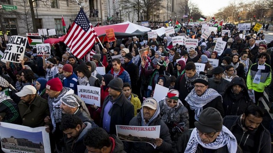
[[[160,117],[158,102],[152,97],[143,101],[141,111],[130,121],[130,126],[156,126],[160,125],[160,136],[156,138],[156,149],[145,142],[124,142],[124,151],[127,153],[167,153],[172,150],[172,140],[169,129]],[[145,148],[145,149],[144,149]]]

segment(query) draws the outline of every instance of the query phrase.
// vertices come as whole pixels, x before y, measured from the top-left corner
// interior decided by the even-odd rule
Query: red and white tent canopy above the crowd
[[[116,38],[126,38],[128,36],[135,36],[135,35],[144,35],[147,32],[151,31],[151,28],[146,28],[129,21],[107,25],[102,27],[94,27],[94,30],[98,34],[98,36],[105,36],[106,29],[114,29]]]

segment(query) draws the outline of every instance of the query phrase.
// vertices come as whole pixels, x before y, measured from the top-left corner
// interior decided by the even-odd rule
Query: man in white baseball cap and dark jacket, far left
[[[21,101],[18,103],[22,125],[32,128],[45,126],[44,117],[49,116],[47,100],[37,94],[32,85],[25,85],[20,92],[16,93]],[[46,125],[50,126],[48,122]]]

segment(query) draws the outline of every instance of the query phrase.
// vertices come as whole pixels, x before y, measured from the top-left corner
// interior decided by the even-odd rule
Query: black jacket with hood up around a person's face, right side
[[[234,94],[232,89],[233,85],[240,85],[242,87],[239,94]],[[223,108],[225,111],[225,116],[241,115],[246,111],[249,105],[253,104],[254,103],[249,97],[244,79],[239,77],[232,79],[226,92],[223,94]]]

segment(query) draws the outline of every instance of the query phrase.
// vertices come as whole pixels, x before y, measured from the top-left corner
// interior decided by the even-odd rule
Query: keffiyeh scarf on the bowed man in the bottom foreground
[[[185,153],[195,153],[197,145],[200,144],[202,147],[207,149],[219,149],[227,145],[229,153],[236,153],[237,151],[237,140],[235,136],[223,125],[222,131],[219,136],[216,137],[215,141],[209,144],[203,143],[196,128],[194,128],[190,140],[187,144]]]

